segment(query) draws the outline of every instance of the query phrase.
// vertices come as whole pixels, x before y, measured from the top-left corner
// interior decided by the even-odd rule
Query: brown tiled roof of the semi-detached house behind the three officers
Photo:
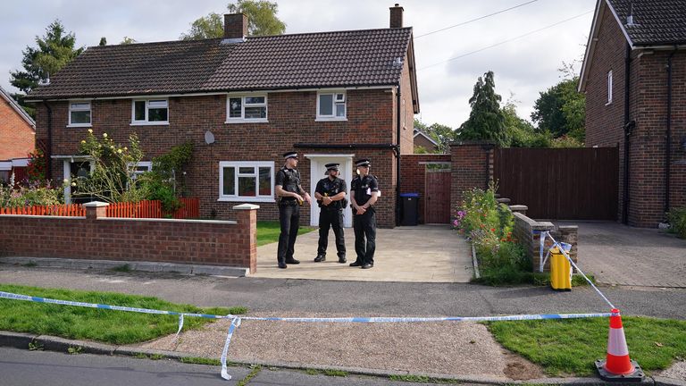
[[[88,48],[29,97],[138,96],[397,83],[412,29],[362,29]]]

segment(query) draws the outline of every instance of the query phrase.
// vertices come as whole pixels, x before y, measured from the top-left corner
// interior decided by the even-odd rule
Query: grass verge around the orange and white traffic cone
[[[686,357],[686,321],[623,317],[629,354],[646,371],[662,370]],[[590,375],[607,354],[607,318],[491,322],[505,348],[541,365],[549,375]]]

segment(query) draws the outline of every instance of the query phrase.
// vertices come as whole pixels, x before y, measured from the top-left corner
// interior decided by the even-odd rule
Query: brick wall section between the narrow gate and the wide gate
[[[493,145],[489,143],[463,143],[450,146],[451,218],[462,203],[462,192],[467,189],[487,189],[493,179]]]

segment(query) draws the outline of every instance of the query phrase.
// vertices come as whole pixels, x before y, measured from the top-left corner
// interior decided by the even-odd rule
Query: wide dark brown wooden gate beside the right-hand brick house
[[[617,147],[499,148],[493,172],[500,196],[531,218],[617,218]]]

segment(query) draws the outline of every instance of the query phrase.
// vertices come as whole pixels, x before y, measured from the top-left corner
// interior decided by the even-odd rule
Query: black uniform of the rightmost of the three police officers
[[[350,183],[350,194],[355,195],[358,206],[372,198],[372,192],[379,191],[379,181],[372,174],[364,177],[356,176]],[[364,214],[356,214],[353,208],[353,229],[355,230],[355,252],[357,259],[350,266],[374,265],[374,250],[376,249],[376,215],[374,207],[367,208]],[[364,238],[366,237],[366,243]]]

